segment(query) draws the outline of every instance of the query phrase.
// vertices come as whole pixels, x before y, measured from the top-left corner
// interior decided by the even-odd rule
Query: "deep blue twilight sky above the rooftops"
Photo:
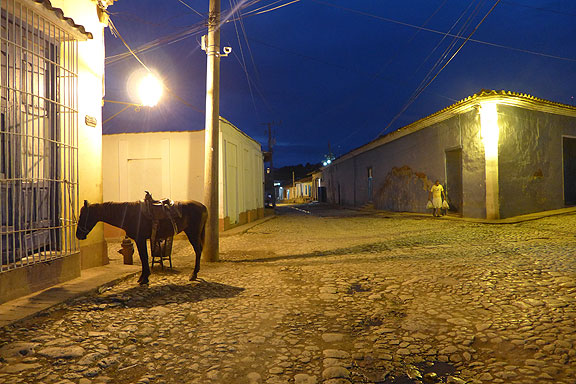
[[[104,133],[204,128],[208,3],[119,0],[109,8],[171,94],[154,109],[119,114]],[[264,123],[274,122],[275,166],[320,162],[329,146],[340,156],[481,89],[576,104],[574,0],[221,4],[222,46],[232,54],[221,60],[220,115],[264,150]],[[106,99],[136,101],[128,83],[142,66],[105,34]],[[119,109],[106,103],[103,119]]]

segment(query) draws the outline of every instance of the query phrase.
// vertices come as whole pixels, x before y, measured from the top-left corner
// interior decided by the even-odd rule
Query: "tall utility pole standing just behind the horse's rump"
[[[206,125],[204,145],[204,204],[208,208],[202,259],[218,261],[218,162],[220,136],[220,0],[210,0],[206,38]]]

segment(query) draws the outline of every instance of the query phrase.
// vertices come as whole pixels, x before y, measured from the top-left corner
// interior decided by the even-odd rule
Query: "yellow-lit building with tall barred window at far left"
[[[108,262],[101,226],[76,240],[78,201],[102,201],[105,8],[2,0],[0,302]]]

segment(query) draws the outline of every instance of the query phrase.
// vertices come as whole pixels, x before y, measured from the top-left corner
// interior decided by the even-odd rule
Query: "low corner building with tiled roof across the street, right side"
[[[452,211],[498,219],[576,205],[576,108],[481,91],[334,160],[328,201],[427,212],[445,186]]]

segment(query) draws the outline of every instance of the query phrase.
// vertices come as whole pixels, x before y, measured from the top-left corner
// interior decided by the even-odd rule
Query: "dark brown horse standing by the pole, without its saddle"
[[[184,231],[186,233],[196,253],[194,273],[190,277],[190,280],[196,280],[198,271],[200,271],[200,257],[204,246],[208,210],[202,203],[197,201],[176,202],[175,206],[181,213],[180,217],[174,218],[176,228],[178,232]],[[88,233],[99,221],[122,228],[126,231],[126,235],[136,242],[140,261],[142,262],[142,274],[138,279],[138,283],[148,284],[150,266],[148,265],[146,240],[152,234],[152,219],[145,214],[143,203],[135,201],[129,203],[88,204],[88,201],[84,200],[84,206],[80,210],[80,217],[78,218],[76,237],[80,240],[85,240]],[[170,219],[160,220],[157,237],[165,238],[173,235],[175,233],[172,221]]]

